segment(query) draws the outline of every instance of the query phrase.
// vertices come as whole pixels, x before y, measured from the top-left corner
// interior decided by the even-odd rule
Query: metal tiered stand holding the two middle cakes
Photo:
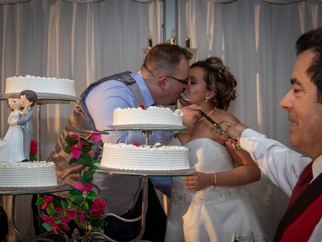
[[[129,131],[129,130],[135,130],[135,131],[142,131],[142,135],[145,136],[145,144],[148,145],[149,143],[149,135],[152,134],[152,131],[183,131],[183,130],[173,130],[173,129],[115,129],[115,130],[104,130],[102,132],[108,132],[108,131]],[[87,132],[91,133],[94,131],[81,131],[81,132]],[[95,132],[95,133],[100,133],[100,132]],[[143,236],[144,229],[145,229],[145,214],[147,211],[147,206],[148,206],[148,177],[150,176],[188,176],[191,175],[192,172],[194,171],[194,168],[191,169],[184,169],[184,170],[174,170],[174,171],[152,171],[152,170],[123,170],[123,169],[110,169],[110,168],[104,168],[100,167],[100,169],[97,170],[97,172],[100,173],[105,173],[108,175],[136,175],[140,176],[142,179],[142,214],[134,219],[125,219],[122,218],[121,216],[118,216],[113,213],[107,213],[103,215],[103,218],[106,218],[108,216],[113,216],[118,218],[121,221],[124,222],[136,222],[141,220],[141,229],[139,234],[129,242],[135,242],[135,241],[147,241],[147,240],[140,240],[140,238]],[[115,240],[111,237],[109,237],[106,234],[100,233],[100,232],[89,232],[88,234],[85,235],[84,239],[82,240],[83,242],[88,241],[91,238],[103,238],[107,239],[108,241],[112,242],[119,242],[118,240]]]

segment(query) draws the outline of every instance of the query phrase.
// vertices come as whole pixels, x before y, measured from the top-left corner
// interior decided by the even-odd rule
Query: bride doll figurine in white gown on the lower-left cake
[[[10,125],[3,140],[0,140],[0,161],[21,162],[25,159],[23,147],[23,135],[20,125],[12,125],[13,122],[21,119],[20,96],[11,95],[7,102],[12,112],[8,117]]]

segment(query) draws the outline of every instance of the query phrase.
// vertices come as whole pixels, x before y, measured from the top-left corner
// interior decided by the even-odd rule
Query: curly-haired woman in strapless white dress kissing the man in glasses
[[[192,103],[216,123],[238,119],[227,111],[235,95],[236,80],[219,57],[209,57],[190,68],[184,91]],[[186,106],[184,100],[180,99]],[[223,128],[227,123],[221,125]],[[204,117],[191,132],[177,134],[189,148],[192,176],[173,177],[165,241],[231,241],[235,230],[264,234],[247,192],[240,187],[260,179],[250,155],[225,147]],[[180,145],[179,144],[179,145]]]

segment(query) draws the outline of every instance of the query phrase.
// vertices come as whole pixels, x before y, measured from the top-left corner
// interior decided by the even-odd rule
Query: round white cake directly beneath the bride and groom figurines
[[[57,186],[54,162],[0,162],[0,187]]]

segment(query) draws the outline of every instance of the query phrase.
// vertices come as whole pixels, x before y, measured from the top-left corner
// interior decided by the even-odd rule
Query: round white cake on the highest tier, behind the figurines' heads
[[[24,90],[32,90],[39,97],[44,97],[44,94],[76,96],[75,82],[73,80],[29,75],[25,77],[9,77],[6,79],[5,94],[20,93]]]

